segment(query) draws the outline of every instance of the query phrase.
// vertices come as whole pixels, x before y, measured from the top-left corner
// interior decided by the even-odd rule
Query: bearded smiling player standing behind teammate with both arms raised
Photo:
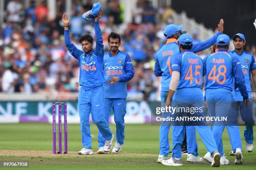
[[[134,70],[130,56],[126,52],[118,50],[121,45],[119,34],[111,32],[108,36],[108,45],[110,51],[104,54],[104,111],[105,119],[108,121],[110,110],[113,108],[116,142],[112,153],[120,153],[125,137],[124,116],[126,114],[127,82],[133,78]],[[105,138],[100,132],[98,140],[100,144],[97,153],[106,153],[103,148]]]

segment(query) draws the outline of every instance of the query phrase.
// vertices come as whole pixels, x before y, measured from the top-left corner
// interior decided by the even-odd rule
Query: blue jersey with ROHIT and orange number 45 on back
[[[191,50],[184,50],[173,57],[172,71],[180,72],[177,89],[198,87],[202,88],[205,69],[202,59]],[[193,92],[192,92],[193,93]]]

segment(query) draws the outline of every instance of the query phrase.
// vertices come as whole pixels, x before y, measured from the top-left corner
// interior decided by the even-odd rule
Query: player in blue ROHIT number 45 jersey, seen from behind
[[[166,105],[169,105],[172,99],[172,107],[185,107],[186,109],[193,108],[193,110],[194,108],[197,108],[195,109],[197,111],[189,112],[188,114],[186,114],[184,111],[175,111],[173,114],[175,120],[176,117],[179,117],[180,115],[187,115],[186,117],[204,117],[202,83],[204,80],[203,76],[205,75],[205,68],[202,59],[191,50],[193,46],[192,41],[192,37],[188,34],[183,34],[178,38],[181,53],[174,56],[171,61],[172,80],[170,82]],[[217,145],[214,141],[210,128],[206,124],[206,121],[189,121],[182,124],[179,123],[180,122],[174,123],[172,126],[172,158],[169,160],[163,160],[162,164],[168,166],[182,165],[181,147],[187,128],[187,139],[191,139],[188,135],[189,131],[195,131],[196,129],[205,147],[212,155],[212,167],[219,167],[220,153],[218,153]],[[196,141],[194,141],[194,143],[196,143]],[[194,145],[190,145],[188,142],[187,148],[190,149],[190,147],[193,147]],[[187,160],[195,158],[197,158],[196,160],[200,159],[197,151],[188,154]]]

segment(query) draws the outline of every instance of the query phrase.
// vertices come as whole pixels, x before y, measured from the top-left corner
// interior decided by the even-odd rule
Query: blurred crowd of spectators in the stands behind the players
[[[64,0],[56,0],[56,8],[56,18],[51,19],[44,0],[31,0],[27,8],[22,0],[8,0],[5,4],[7,15],[0,25],[0,92],[78,92],[79,65],[64,45],[61,20]],[[166,42],[163,30],[172,23],[175,11],[167,4],[155,8],[149,0],[137,0],[132,22],[124,24],[124,8],[118,0],[102,3],[100,27],[104,50],[109,50],[110,32],[118,32],[122,39],[120,50],[130,54],[135,70],[128,82],[128,95],[157,100],[161,77],[154,75],[155,53]],[[93,24],[81,17],[90,9],[90,0],[72,1],[71,40],[81,50],[78,42],[81,35],[95,37]],[[198,30],[192,31],[194,44],[200,42],[197,34]],[[255,48],[246,45],[246,50],[256,56]],[[207,52],[201,52],[200,56]]]

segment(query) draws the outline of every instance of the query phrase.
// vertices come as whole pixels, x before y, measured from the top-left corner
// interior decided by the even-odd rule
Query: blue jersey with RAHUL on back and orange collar
[[[193,45],[191,51],[199,52],[207,49],[216,42],[217,37],[220,34],[221,32],[217,32],[210,39]],[[172,57],[179,53],[179,44],[178,41],[174,38],[169,38],[166,44],[156,52],[154,74],[156,76],[162,76],[161,91],[169,91],[169,85],[172,79],[172,69],[170,62]]]

